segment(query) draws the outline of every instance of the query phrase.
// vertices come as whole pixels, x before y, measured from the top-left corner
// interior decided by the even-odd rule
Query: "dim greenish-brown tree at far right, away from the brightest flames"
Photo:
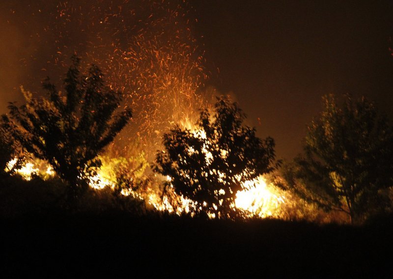
[[[384,205],[381,192],[393,186],[393,131],[364,97],[323,97],[325,109],[308,126],[305,156],[286,171],[298,194],[329,210],[347,213],[352,223]]]

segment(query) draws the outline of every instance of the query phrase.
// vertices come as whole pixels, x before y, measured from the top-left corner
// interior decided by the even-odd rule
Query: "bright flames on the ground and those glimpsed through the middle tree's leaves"
[[[195,129],[191,131],[195,138],[204,140],[202,153],[205,155],[205,164],[207,166],[211,165],[214,158],[209,149],[212,144],[209,140],[207,140],[205,131],[203,131],[203,129]],[[190,147],[189,152],[193,153],[196,151]],[[225,158],[227,154],[228,152],[226,150],[221,150],[221,157]],[[16,162],[16,158],[8,162],[6,171],[13,169]],[[105,160],[102,163],[101,168],[96,170],[96,174],[88,178],[88,184],[91,188],[96,190],[102,190],[106,187],[110,187],[114,190],[117,183],[117,177],[115,177],[116,174],[115,171],[113,171],[114,165],[111,165],[110,161]],[[36,165],[38,165],[38,167],[35,167]],[[42,165],[46,168],[45,171],[40,171],[39,167],[42,167]],[[212,169],[210,171],[216,173],[217,170]],[[22,177],[26,180],[30,180],[34,173],[46,173],[50,176],[55,175],[52,167],[42,163],[34,164],[34,162],[28,162],[21,168],[15,169],[15,172],[22,175]],[[221,173],[220,171],[217,172],[221,182],[224,182],[223,178],[226,174]],[[237,175],[234,178],[239,183],[242,183],[244,190],[236,193],[236,198],[232,204],[232,208],[234,210],[240,209],[244,211],[245,217],[280,218],[280,207],[285,203],[285,197],[283,195],[279,195],[278,191],[275,190],[276,187],[272,183],[267,183],[263,176],[258,176],[254,180],[245,182],[241,182],[241,178],[242,174]],[[132,180],[133,178],[131,177],[129,181],[132,182]],[[164,177],[164,180],[167,180],[170,183],[172,178],[170,176],[166,176]],[[168,211],[169,213],[175,213],[178,215],[183,213],[191,213],[191,215],[195,215],[197,211],[202,210],[201,208],[197,208],[197,203],[195,201],[184,196],[177,195],[172,184],[169,185],[170,187],[166,191],[165,195],[160,195],[159,191],[154,191],[151,187],[147,187],[143,191],[134,190],[131,185],[123,186],[120,194],[144,200],[148,205],[158,211]],[[217,194],[223,195],[225,194],[225,191],[220,189]],[[215,208],[217,207],[217,205],[213,206]],[[210,218],[215,218],[214,213],[207,212],[207,214]]]

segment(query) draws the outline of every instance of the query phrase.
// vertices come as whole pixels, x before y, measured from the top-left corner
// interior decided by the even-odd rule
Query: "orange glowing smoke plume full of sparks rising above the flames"
[[[21,14],[27,15],[21,26],[31,27],[35,48],[21,59],[23,67],[57,75],[77,51],[83,63],[97,64],[111,89],[122,93],[133,118],[116,137],[119,145],[140,140],[152,160],[173,123],[195,123],[199,108],[208,105],[200,87],[209,73],[190,1],[35,0],[28,6],[12,3],[6,19],[20,26]],[[50,51],[43,53],[38,47],[43,45]]]

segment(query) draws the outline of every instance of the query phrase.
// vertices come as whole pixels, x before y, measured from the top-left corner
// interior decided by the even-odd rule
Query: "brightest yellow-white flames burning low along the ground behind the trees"
[[[11,171],[15,166],[17,159],[14,158],[8,162],[6,171]],[[42,168],[40,169],[39,167]],[[25,180],[31,180],[32,175],[46,174],[48,176],[54,176],[55,172],[52,167],[37,162],[28,162],[24,166],[15,169],[15,173],[20,174]],[[106,173],[105,166],[97,170],[97,173],[89,177],[89,186],[96,190],[102,190],[106,187],[114,189],[116,179],[109,177],[110,174]],[[167,176],[165,178],[168,182],[171,178]],[[239,191],[236,194],[235,204],[233,207],[242,209],[246,212],[246,217],[280,217],[280,206],[285,203],[285,197],[275,193],[274,185],[268,184],[263,176],[259,176],[253,181],[246,181],[243,183],[245,188],[243,191]],[[148,189],[143,193],[132,190],[131,188],[121,189],[121,195],[132,196],[152,206],[158,211],[167,211],[169,213],[175,213],[181,215],[183,213],[190,213],[192,216],[199,210],[195,201],[179,196],[174,193],[172,187],[169,187],[166,195],[160,196],[159,193]],[[174,203],[173,200],[176,200]],[[210,218],[214,218],[214,213],[208,213]]]

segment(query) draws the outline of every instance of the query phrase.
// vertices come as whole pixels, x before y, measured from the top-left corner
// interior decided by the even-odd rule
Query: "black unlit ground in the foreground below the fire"
[[[364,227],[121,212],[1,220],[2,278],[392,278],[392,218]]]

